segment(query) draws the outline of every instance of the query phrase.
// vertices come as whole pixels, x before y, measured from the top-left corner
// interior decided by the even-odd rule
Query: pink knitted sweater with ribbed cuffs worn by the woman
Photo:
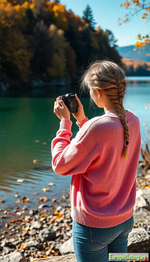
[[[72,136],[69,119],[51,143],[52,169],[71,175],[71,217],[76,222],[96,228],[108,228],[129,219],[136,198],[141,134],[140,121],[129,109],[125,113],[129,128],[128,156],[121,158],[125,147],[124,130],[119,116],[107,113],[76,124]]]

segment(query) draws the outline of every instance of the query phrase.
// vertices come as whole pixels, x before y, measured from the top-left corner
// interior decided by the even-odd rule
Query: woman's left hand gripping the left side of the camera
[[[54,102],[54,114],[58,116],[60,120],[63,118],[70,120],[70,112],[67,106],[64,104],[63,100],[60,99],[61,96],[58,96],[56,98],[56,101]]]

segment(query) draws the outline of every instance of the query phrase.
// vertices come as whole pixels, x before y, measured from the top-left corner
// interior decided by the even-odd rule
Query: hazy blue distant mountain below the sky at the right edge
[[[118,53],[123,57],[123,58],[131,58],[134,60],[142,60],[142,61],[147,61],[150,62],[150,57],[146,55],[146,53],[150,53],[150,46],[146,45],[144,46],[145,49],[140,49],[137,48],[137,50],[133,50],[135,49],[135,46],[116,46],[116,50],[118,51]],[[138,54],[138,51],[140,51],[140,54]]]

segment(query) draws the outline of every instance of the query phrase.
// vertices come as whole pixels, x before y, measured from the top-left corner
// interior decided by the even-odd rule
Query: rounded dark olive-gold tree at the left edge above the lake
[[[1,69],[27,82],[32,55],[29,43],[19,29],[4,28],[1,36]]]

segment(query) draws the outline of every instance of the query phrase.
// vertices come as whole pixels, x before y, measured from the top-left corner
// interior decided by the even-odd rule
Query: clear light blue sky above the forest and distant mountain
[[[60,3],[66,6],[66,9],[71,9],[74,14],[82,17],[83,10],[89,4],[96,27],[100,26],[104,31],[106,29],[113,32],[115,38],[118,40],[118,46],[135,45],[137,42],[137,35],[145,35],[149,33],[149,23],[145,19],[141,19],[143,11],[136,14],[130,23],[126,22],[122,25],[117,24],[118,18],[124,19],[124,15],[129,12],[124,6],[120,7],[120,3],[125,3],[125,0],[60,0]],[[146,3],[149,1],[146,0]]]

